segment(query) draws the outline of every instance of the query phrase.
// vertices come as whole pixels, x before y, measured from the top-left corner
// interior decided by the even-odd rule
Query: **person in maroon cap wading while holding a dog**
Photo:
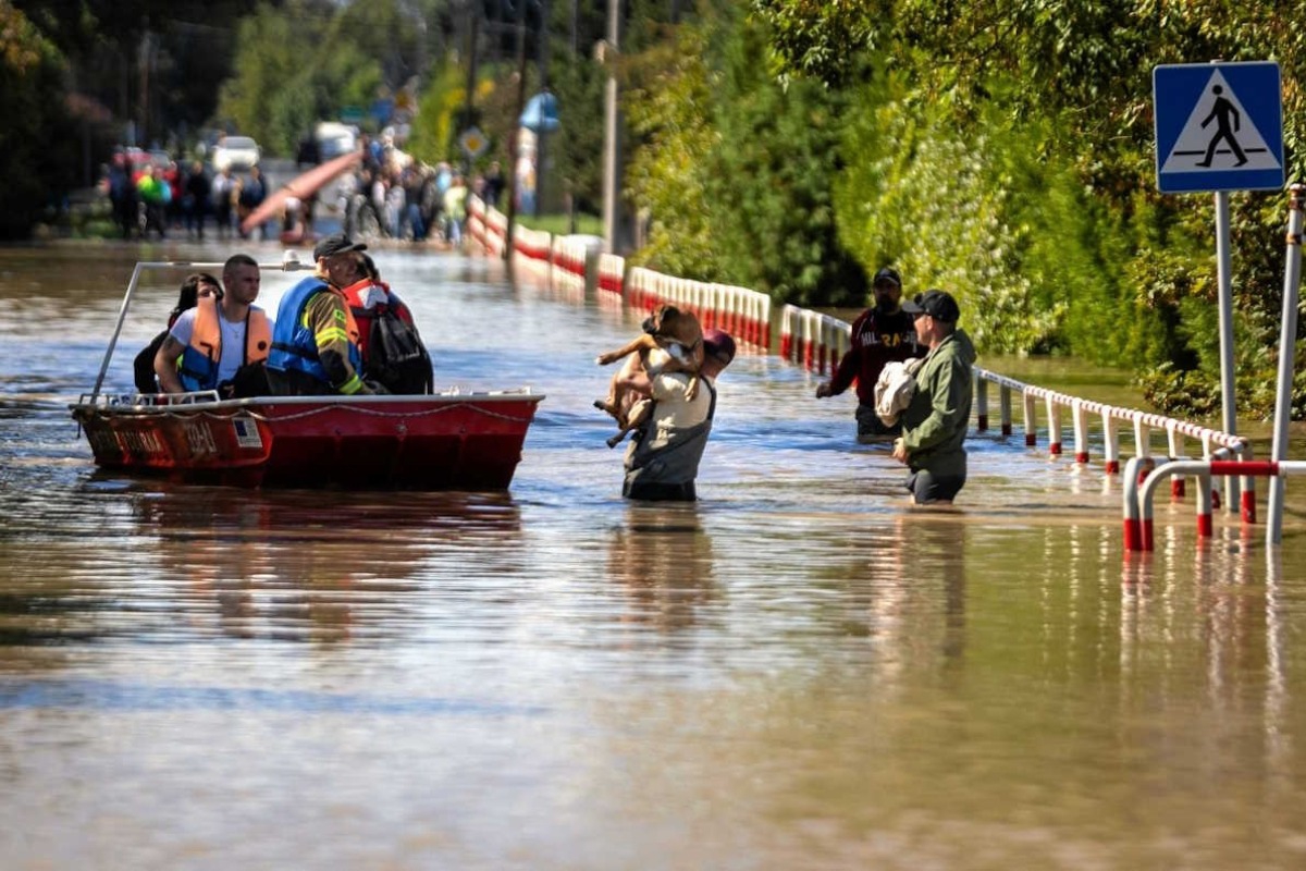
[[[717,411],[716,379],[735,355],[735,343],[721,329],[703,330],[703,366],[699,376],[705,390],[686,400],[686,372],[663,372],[649,380],[646,392],[653,410],[626,452],[622,495],[649,501],[693,501],[699,461],[708,445]],[[644,392],[641,385],[635,389]]]

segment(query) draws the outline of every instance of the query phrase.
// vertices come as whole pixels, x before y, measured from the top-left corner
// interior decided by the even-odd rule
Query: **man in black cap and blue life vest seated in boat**
[[[366,396],[384,393],[367,384],[358,323],[345,294],[330,283],[355,251],[367,245],[336,232],[313,248],[315,273],[286,291],[268,355],[268,379],[282,396]]]

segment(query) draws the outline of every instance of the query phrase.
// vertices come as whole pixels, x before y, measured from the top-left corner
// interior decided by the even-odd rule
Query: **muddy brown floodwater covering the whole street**
[[[855,400],[744,353],[701,500],[629,504],[593,358],[636,316],[409,251],[376,259],[438,388],[547,396],[509,492],[98,473],[67,406],[133,264],[227,253],[0,248],[7,871],[1306,863],[1306,483],[1281,548],[1259,482],[1262,524],[1158,500],[1126,560],[1101,452],[1017,420],[912,511]]]

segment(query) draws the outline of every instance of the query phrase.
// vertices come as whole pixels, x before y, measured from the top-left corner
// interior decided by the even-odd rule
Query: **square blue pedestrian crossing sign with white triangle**
[[[1161,193],[1284,187],[1279,64],[1166,64],[1152,71]]]

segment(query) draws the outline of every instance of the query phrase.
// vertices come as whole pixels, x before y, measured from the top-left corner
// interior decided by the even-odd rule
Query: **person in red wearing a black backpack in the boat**
[[[363,379],[389,393],[431,393],[431,355],[413,321],[413,312],[381,281],[376,262],[363,253],[364,248],[366,244],[353,243],[349,257],[341,257],[350,265],[330,273],[330,282],[345,294],[358,324]]]

